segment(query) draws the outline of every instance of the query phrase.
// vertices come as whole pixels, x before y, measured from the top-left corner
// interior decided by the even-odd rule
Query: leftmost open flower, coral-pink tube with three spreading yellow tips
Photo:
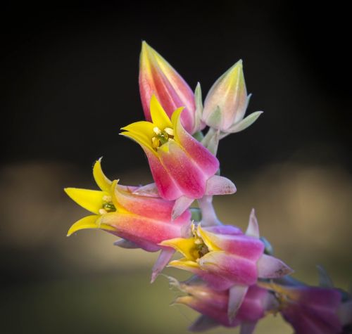
[[[121,247],[138,247],[149,252],[162,250],[153,269],[156,277],[174,252],[160,243],[170,237],[187,235],[190,212],[187,210],[171,221],[173,202],[136,195],[137,187],[119,185],[117,180],[110,181],[101,170],[100,160],[94,164],[93,175],[100,191],[65,188],[70,198],[93,213],[76,221],[68,236],[82,229],[102,229],[123,238],[115,243]]]

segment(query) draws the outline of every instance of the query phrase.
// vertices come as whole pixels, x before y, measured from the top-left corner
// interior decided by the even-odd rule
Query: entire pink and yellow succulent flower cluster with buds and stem
[[[122,248],[160,251],[152,282],[165,266],[193,274],[186,282],[169,277],[184,294],[175,302],[201,314],[190,330],[241,326],[241,333],[251,334],[264,316],[280,313],[297,334],[350,333],[351,296],[333,288],[322,269],[320,287],[294,280],[292,269],[260,238],[254,210],[245,232],[222,224],[215,214],[213,196],[236,192],[232,181],[220,176],[219,142],[262,113],[244,117],[250,95],[241,60],[213,84],[203,103],[200,84],[193,92],[143,42],[139,90],[146,120],[122,127],[121,134],[141,146],[154,183],[122,186],[103,174],[97,160],[93,175],[99,191],[65,188],[92,212],[75,222],[68,236],[101,229],[118,236],[115,245]],[[172,260],[175,252],[183,257]]]

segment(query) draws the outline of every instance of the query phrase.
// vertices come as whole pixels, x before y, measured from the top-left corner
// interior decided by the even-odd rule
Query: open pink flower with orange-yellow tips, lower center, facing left
[[[228,313],[232,318],[250,285],[258,278],[279,278],[291,269],[279,259],[263,254],[258,222],[251,212],[246,234],[234,226],[192,225],[191,238],[165,240],[163,246],[175,248],[184,255],[169,266],[191,271],[215,290],[230,288]]]

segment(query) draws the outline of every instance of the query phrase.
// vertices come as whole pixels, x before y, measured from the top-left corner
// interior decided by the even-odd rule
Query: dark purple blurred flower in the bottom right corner
[[[279,285],[261,283],[267,286],[279,300],[279,311],[291,324],[296,334],[340,334],[345,323],[341,323],[339,312],[341,292],[334,288],[320,288],[308,285]],[[349,307],[351,312],[351,307]],[[351,313],[350,313],[351,319]]]

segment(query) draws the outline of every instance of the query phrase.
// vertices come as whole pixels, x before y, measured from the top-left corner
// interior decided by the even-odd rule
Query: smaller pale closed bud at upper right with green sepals
[[[204,101],[202,120],[209,127],[226,134],[249,127],[262,113],[257,111],[244,119],[249,103],[244,82],[242,60],[235,63],[211,87]]]

